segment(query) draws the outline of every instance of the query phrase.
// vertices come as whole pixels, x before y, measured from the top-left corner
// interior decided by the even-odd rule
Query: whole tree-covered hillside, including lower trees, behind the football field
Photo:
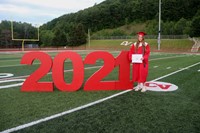
[[[81,45],[87,41],[88,29],[95,33],[131,24],[145,24],[144,30],[148,34],[157,35],[158,8],[159,0],[105,0],[93,7],[65,14],[42,25],[40,44]],[[199,26],[199,0],[162,0],[162,34],[200,36]],[[109,35],[113,34],[130,35],[119,29]]]

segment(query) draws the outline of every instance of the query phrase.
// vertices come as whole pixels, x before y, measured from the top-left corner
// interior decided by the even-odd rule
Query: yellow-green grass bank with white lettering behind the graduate
[[[90,49],[113,49],[122,50],[130,49],[130,45],[120,45],[122,42],[135,42],[135,39],[116,39],[116,40],[91,40]],[[151,50],[157,50],[157,39],[146,39],[146,42],[150,44]],[[190,52],[193,46],[193,42],[188,39],[163,39],[161,41],[161,51],[172,52]]]

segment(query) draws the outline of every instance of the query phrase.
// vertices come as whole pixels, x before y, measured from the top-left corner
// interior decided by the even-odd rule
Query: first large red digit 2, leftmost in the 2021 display
[[[53,91],[52,82],[38,82],[51,69],[52,59],[44,52],[30,52],[22,57],[21,64],[32,65],[34,60],[40,60],[40,67],[32,73],[22,85],[21,91]]]

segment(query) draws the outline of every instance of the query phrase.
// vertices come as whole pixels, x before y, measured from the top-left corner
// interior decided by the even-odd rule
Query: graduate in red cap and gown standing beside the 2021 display
[[[140,60],[142,63],[133,63],[133,81],[137,82],[138,85],[134,87],[135,91],[141,90],[141,92],[146,91],[145,82],[148,76],[149,67],[149,55],[150,47],[147,42],[144,41],[144,36],[146,33],[138,32],[138,41],[132,44],[129,51],[129,60],[132,61],[132,54],[142,54]]]

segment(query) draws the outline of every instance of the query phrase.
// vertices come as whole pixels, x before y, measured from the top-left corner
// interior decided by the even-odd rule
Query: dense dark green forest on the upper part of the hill
[[[158,19],[158,3],[159,0],[106,0],[91,8],[56,18],[43,25],[43,29],[52,30],[57,25],[72,22],[82,23],[85,29],[98,31],[133,21]],[[162,0],[162,20],[192,19],[200,9],[199,3],[199,0]]]

